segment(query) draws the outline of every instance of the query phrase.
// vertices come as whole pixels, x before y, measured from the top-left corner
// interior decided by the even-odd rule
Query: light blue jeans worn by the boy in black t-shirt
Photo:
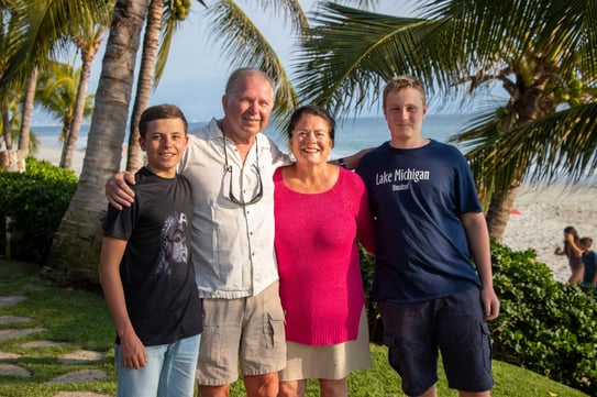
[[[122,365],[120,345],[115,345],[119,397],[192,397],[195,372],[201,335],[170,344],[145,346],[147,365],[134,370]]]

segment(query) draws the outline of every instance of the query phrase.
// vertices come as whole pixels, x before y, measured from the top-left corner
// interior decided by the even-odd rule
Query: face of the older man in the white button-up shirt
[[[224,132],[235,143],[252,142],[267,126],[274,108],[274,87],[258,73],[250,73],[234,80],[222,97]]]

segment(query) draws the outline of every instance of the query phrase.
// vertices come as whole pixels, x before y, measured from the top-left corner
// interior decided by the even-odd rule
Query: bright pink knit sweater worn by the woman
[[[274,175],[276,255],[286,340],[328,345],[355,340],[365,302],[356,238],[375,246],[368,199],[361,178],[340,168],[321,194],[299,194]]]

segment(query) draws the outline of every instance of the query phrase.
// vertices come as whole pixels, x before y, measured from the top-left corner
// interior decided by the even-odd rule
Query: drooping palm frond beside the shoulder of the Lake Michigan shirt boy
[[[578,183],[596,176],[597,103],[574,107],[504,134],[491,113],[452,137],[465,142],[479,190],[490,197],[512,180]]]

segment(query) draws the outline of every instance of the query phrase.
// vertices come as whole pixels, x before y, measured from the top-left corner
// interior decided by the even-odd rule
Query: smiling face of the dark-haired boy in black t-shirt
[[[163,178],[173,178],[187,148],[189,137],[181,119],[157,119],[146,123],[145,137],[139,139],[147,155],[147,168]]]

